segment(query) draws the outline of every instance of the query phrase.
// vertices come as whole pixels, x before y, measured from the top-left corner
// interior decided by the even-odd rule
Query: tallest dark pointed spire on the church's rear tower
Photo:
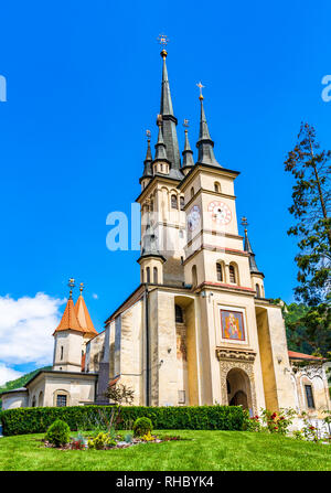
[[[181,167],[181,158],[178,144],[178,136],[177,136],[177,118],[173,115],[172,100],[170,95],[170,86],[168,78],[168,69],[167,69],[167,58],[168,52],[167,50],[161,51],[161,56],[163,60],[163,68],[162,68],[162,87],[161,87],[161,105],[160,105],[160,115],[162,116],[162,130],[163,130],[163,139],[167,148],[167,157],[170,161],[170,173],[171,178],[177,180],[182,180],[183,174],[180,170]]]

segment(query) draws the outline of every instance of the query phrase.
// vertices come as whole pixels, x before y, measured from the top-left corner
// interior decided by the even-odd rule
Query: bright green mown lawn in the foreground
[[[160,431],[159,435],[166,435]],[[185,440],[115,450],[55,450],[43,435],[0,439],[1,471],[331,470],[330,446],[247,431],[169,431]]]

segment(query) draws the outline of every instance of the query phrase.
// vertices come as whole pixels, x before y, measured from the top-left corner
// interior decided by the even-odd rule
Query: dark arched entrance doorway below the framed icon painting
[[[232,368],[226,375],[226,387],[229,406],[243,406],[253,411],[250,382],[244,369]]]

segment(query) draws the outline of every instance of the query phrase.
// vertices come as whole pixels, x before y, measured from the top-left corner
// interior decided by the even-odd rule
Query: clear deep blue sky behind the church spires
[[[266,296],[291,301],[292,182],[284,160],[301,120],[331,148],[331,101],[321,98],[321,79],[331,73],[330,15],[327,1],[3,4],[0,296],[63,299],[73,276],[85,282],[100,330],[138,286],[138,254],[106,248],[106,217],[129,213],[139,194],[146,129],[152,143],[157,137],[157,37],[166,32],[181,148],[184,118],[192,147],[197,138],[202,81],[215,156],[241,171],[237,215],[248,217]],[[7,363],[19,371],[35,365]]]

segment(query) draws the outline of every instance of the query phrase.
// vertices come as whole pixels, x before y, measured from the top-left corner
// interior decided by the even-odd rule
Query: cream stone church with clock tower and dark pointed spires
[[[254,415],[329,409],[322,362],[288,351],[281,307],[266,297],[246,218],[244,235],[238,231],[239,172],[214,152],[201,84],[197,157],[186,122],[181,157],[167,54],[158,139],[152,152],[148,133],[137,197],[139,286],[100,333],[82,293],[76,304],[71,293],[54,332],[53,371],[20,389],[21,405],[105,403],[113,381],[131,387],[141,406],[242,405]],[[320,373],[295,372],[296,361],[319,363]]]

